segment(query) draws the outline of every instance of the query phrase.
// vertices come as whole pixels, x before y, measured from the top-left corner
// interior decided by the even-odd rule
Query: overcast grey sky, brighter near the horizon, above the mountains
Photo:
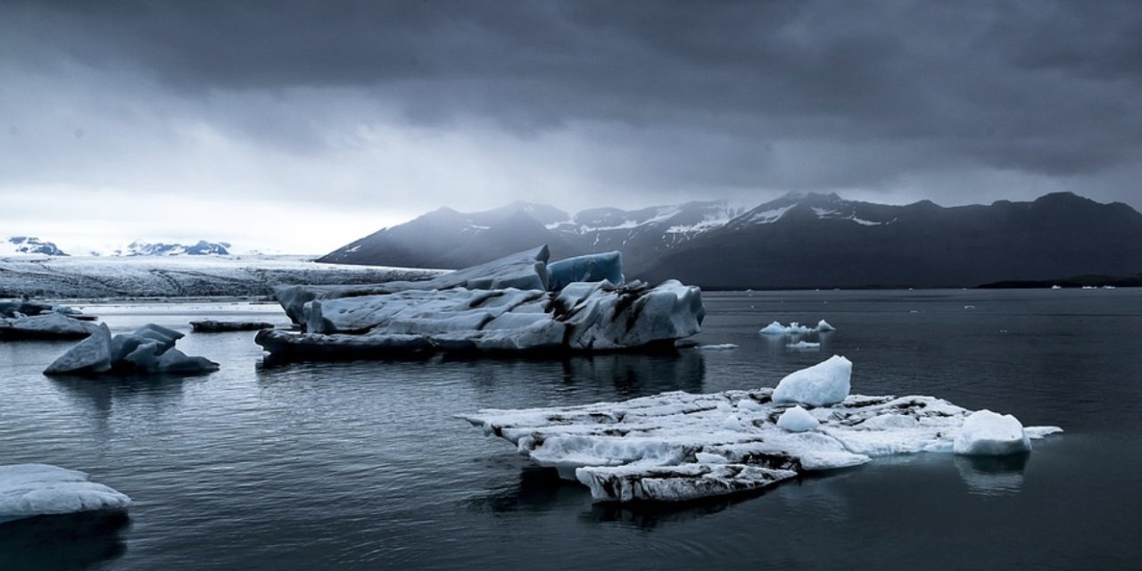
[[[1140,180],[1135,1],[0,3],[0,236],[73,249]]]

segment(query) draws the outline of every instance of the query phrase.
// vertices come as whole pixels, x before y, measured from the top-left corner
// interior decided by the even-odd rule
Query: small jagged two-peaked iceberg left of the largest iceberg
[[[218,363],[188,356],[175,348],[183,333],[154,323],[132,333],[111,336],[106,323],[56,359],[45,375],[172,373],[194,375],[218,370]]]

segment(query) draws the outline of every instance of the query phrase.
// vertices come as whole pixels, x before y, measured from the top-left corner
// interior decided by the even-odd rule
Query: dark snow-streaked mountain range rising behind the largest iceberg
[[[515,202],[441,208],[320,258],[457,268],[546,243],[553,258],[619,250],[628,278],[706,288],[973,287],[1142,272],[1142,214],[1072,193],[941,207],[790,193],[753,209],[723,201],[569,215]]]

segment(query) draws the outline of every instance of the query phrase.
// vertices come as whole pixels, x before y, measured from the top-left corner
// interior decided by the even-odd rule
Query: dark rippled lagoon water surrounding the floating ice
[[[965,308],[965,306],[974,306]],[[54,380],[70,344],[0,344],[0,464],[82,469],[130,521],[0,526],[0,569],[1140,569],[1142,291],[710,293],[734,351],[266,368],[252,333],[188,335],[198,378]],[[115,331],[271,306],[93,306]],[[915,312],[915,313],[912,313]],[[820,352],[772,320],[837,331]],[[674,510],[593,506],[452,415],[773,386],[831,354],[853,391],[1057,424],[1026,465],[875,461]],[[50,520],[50,518],[49,518]]]

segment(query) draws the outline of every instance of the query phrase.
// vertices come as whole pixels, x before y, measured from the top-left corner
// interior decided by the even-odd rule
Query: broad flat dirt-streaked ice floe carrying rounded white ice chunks
[[[976,443],[973,451],[1018,451],[979,448],[981,435],[995,437],[991,431],[978,431],[978,420],[966,423],[972,411],[933,396],[849,395],[850,371],[847,360],[834,357],[786,377],[779,389],[797,394],[787,403],[778,402],[772,388],[671,392],[616,403],[486,409],[459,418],[587,485],[596,501],[684,501],[759,490],[880,456],[951,452],[962,434]],[[1060,431],[1023,433],[1037,439]]]

